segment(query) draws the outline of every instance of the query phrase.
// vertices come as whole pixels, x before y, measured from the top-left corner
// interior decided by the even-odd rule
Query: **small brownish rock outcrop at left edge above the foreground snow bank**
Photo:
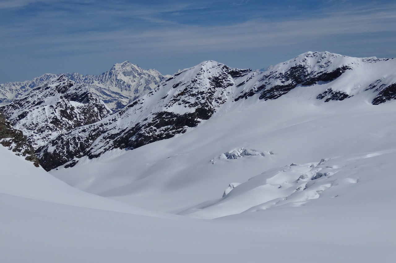
[[[18,156],[25,156],[25,160],[33,162],[34,166],[38,167],[38,158],[34,154],[33,147],[26,139],[27,137],[23,135],[22,131],[13,128],[4,114],[0,112],[0,144],[9,148]]]

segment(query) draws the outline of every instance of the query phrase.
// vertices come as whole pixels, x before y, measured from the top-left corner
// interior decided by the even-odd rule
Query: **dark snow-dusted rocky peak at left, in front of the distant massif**
[[[60,75],[0,108],[37,148],[53,137],[97,122],[112,111],[89,87]]]

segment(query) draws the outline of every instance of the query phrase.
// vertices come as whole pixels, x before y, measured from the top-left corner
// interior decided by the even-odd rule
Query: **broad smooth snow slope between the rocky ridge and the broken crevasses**
[[[114,151],[124,153],[119,157],[81,159],[72,168],[76,173],[70,168],[51,173],[91,193],[180,212],[221,198],[231,182],[243,183],[269,169],[396,149],[393,108],[393,102],[370,105],[354,98],[315,105],[291,95],[244,103],[178,137]],[[265,156],[219,158],[239,148]]]

